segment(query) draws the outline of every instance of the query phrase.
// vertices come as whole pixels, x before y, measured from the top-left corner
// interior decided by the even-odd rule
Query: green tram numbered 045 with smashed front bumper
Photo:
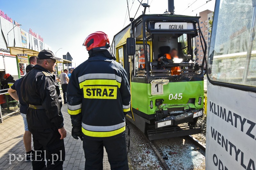
[[[132,110],[126,118],[151,140],[201,132],[197,119],[203,115],[206,43],[199,18],[141,15],[114,36],[111,51],[131,86]],[[131,36],[136,54],[128,56],[126,39]],[[198,46],[203,46],[203,64],[198,64]],[[178,58],[158,61],[173,48]],[[173,74],[173,67],[181,74]]]

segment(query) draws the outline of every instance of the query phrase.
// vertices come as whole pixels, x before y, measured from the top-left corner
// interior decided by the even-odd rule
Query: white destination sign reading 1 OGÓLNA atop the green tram
[[[193,26],[193,23],[186,23],[186,22],[156,22],[155,29],[191,30],[191,29],[194,29],[194,26]]]

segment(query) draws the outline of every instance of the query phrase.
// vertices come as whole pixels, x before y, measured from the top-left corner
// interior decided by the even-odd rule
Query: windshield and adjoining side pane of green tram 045
[[[146,50],[143,41],[137,37],[135,70],[141,72],[147,70],[146,62],[148,62],[152,76],[180,75],[184,72],[190,72],[190,75],[200,74],[201,67],[197,63],[195,53],[200,40],[198,38],[197,41],[196,37],[195,33],[148,34]],[[197,63],[196,67],[194,67],[195,63]]]

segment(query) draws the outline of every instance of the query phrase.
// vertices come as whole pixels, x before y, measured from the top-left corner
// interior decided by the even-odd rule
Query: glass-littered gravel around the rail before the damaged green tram
[[[128,153],[129,168],[132,170],[161,170],[164,169],[157,159],[155,152],[148,144],[143,133],[128,122],[130,127],[130,150]],[[127,134],[127,130],[126,130]],[[126,138],[128,146],[128,138]],[[167,165],[173,170],[205,169],[205,152],[197,149],[186,138],[167,138],[154,140],[159,152],[167,155]]]

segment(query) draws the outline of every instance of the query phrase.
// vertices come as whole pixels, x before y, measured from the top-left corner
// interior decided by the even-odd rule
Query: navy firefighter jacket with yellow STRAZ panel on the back
[[[113,139],[125,131],[130,111],[130,86],[124,68],[105,48],[94,48],[76,67],[67,89],[68,113],[85,138]]]

